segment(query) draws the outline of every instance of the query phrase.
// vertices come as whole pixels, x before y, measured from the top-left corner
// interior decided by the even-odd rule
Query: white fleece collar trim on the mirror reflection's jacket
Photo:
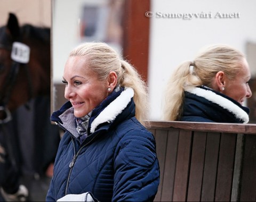
[[[206,90],[198,87],[192,87],[187,89],[186,91],[190,92],[191,94],[195,94],[200,97],[204,97],[207,100],[210,100],[213,103],[218,104],[219,106],[225,108],[229,112],[233,113],[237,119],[243,120],[244,123],[249,122],[249,115],[235,103],[231,102],[230,100],[222,97],[218,94],[215,94],[211,90]]]

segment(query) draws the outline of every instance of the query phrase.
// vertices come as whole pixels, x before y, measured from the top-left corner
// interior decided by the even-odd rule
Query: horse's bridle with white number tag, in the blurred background
[[[0,44],[0,48],[6,49],[7,51],[11,51],[12,65],[9,74],[7,75],[3,87],[0,91],[0,111],[4,112],[4,119],[0,120],[0,124],[9,122],[12,117],[9,109],[7,108],[7,104],[9,102],[12,89],[15,85],[15,81],[18,76],[18,72],[21,66],[26,69],[27,78],[29,82],[29,98],[33,95],[33,85],[31,82],[31,77],[28,69],[28,61],[29,61],[29,52],[30,49],[27,45],[22,44],[20,42],[13,42],[12,46]]]

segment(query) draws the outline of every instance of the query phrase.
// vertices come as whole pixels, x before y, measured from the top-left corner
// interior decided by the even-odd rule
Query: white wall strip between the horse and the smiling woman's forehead
[[[53,80],[62,81],[62,74],[68,54],[78,43],[79,19],[83,5],[98,5],[106,0],[52,0],[52,31],[53,31]]]

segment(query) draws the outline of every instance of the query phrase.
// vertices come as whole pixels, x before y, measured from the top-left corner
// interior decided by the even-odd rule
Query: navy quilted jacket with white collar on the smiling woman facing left
[[[134,116],[133,90],[115,92],[93,110],[82,144],[72,109],[67,102],[51,117],[66,132],[46,201],[88,191],[100,201],[154,200],[159,184],[155,139]]]

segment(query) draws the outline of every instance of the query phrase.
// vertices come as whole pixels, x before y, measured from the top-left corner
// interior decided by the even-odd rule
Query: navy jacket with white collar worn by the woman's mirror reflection
[[[249,108],[205,86],[185,91],[180,121],[247,123]]]

